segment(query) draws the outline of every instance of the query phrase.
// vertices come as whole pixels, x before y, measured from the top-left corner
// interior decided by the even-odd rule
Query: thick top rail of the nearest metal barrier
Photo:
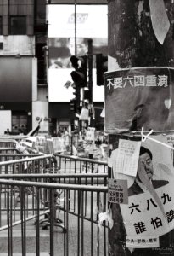
[[[105,186],[89,186],[89,185],[76,185],[76,184],[61,184],[61,183],[37,183],[28,181],[13,181],[7,179],[0,179],[0,184],[21,186],[21,187],[37,187],[46,189],[67,189],[67,190],[83,190],[83,191],[97,191],[106,192],[108,188]]]

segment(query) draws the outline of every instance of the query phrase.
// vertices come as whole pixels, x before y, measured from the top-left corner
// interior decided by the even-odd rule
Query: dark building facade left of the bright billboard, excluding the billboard
[[[11,111],[13,134],[27,134],[41,120],[42,134],[53,135],[61,122],[70,125],[70,101],[48,97],[48,5],[63,3],[75,2],[0,0],[0,111]],[[98,105],[99,115],[104,102]]]

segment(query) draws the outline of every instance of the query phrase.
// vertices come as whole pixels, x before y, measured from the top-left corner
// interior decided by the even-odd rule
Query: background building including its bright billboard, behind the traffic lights
[[[107,55],[107,1],[78,1],[76,19],[79,55],[87,54],[87,38],[94,54]],[[6,128],[14,134],[27,134],[41,119],[42,134],[70,128],[73,90],[64,85],[70,80],[74,23],[74,0],[0,1],[0,111],[8,111]],[[104,86],[96,85],[95,67],[93,102],[96,127],[104,129]]]

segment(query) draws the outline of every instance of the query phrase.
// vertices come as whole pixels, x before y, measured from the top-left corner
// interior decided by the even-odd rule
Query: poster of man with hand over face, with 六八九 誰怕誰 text
[[[138,165],[137,177],[128,187],[128,204],[121,205],[127,236],[160,237],[174,229],[172,149],[165,145],[164,135],[141,143],[138,161],[143,165]]]

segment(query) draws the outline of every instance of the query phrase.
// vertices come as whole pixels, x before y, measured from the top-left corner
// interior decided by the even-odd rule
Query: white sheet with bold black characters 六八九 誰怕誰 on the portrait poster
[[[163,183],[165,184],[162,180],[161,184]],[[160,186],[160,180],[154,181],[153,184],[154,186]],[[174,192],[172,188],[173,183],[166,183],[166,185],[155,190],[160,198],[165,215],[149,191],[129,196],[128,205],[121,205],[127,236],[143,237],[153,234],[159,237],[174,228],[174,218],[172,217]],[[131,189],[128,190],[128,195]]]

